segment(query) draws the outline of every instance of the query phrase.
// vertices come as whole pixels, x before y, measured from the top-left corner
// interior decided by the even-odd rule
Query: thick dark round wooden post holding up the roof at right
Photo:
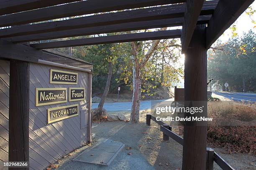
[[[205,48],[205,25],[197,25],[189,48],[185,52],[184,65],[185,107],[193,102],[207,100],[207,49]],[[198,107],[198,105],[197,105]],[[186,116],[198,116],[198,114]],[[207,117],[207,105],[200,116]],[[198,122],[184,123],[183,170],[205,170],[207,126]]]

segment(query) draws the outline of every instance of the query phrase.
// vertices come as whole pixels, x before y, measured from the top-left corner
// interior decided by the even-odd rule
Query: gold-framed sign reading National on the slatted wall
[[[67,102],[67,88],[36,88],[36,106]]]

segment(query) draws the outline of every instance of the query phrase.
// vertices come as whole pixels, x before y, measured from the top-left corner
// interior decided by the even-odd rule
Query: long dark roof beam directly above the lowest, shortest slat
[[[197,24],[207,24],[210,20],[210,17],[211,17],[210,15],[199,16]],[[12,42],[52,40],[52,39],[64,38],[64,37],[77,37],[77,36],[95,35],[95,34],[111,33],[111,32],[176,27],[176,26],[182,26],[183,22],[184,22],[183,18],[171,18],[171,19],[162,19],[162,20],[141,21],[141,22],[134,22],[134,23],[114,24],[114,25],[106,25],[106,26],[99,26],[99,27],[79,28],[74,30],[46,32],[41,34],[22,35],[17,37],[10,37],[10,38],[8,37],[5,39]]]

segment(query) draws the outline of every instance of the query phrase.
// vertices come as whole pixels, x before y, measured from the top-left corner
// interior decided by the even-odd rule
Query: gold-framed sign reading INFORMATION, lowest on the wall
[[[47,124],[78,115],[78,104],[47,109]]]

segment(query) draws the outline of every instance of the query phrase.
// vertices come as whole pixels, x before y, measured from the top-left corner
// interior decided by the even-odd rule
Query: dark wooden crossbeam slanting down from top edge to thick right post
[[[203,3],[204,0],[187,0],[181,36],[182,54],[186,52],[189,47]]]

